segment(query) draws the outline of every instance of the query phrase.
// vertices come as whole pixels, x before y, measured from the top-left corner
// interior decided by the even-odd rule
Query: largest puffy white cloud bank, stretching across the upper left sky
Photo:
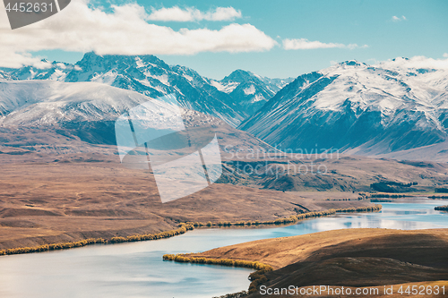
[[[88,7],[87,1],[73,0],[61,13],[16,30],[11,30],[6,12],[0,10],[0,65],[39,63],[26,53],[48,49],[99,55],[193,55],[264,51],[277,44],[251,24],[177,31],[148,23],[149,15],[139,4],[114,5],[113,12],[106,13]]]

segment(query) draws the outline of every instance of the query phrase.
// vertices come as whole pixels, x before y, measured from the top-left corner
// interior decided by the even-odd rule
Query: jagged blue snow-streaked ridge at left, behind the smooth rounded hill
[[[151,98],[175,94],[185,108],[219,117],[232,126],[237,126],[249,115],[246,110],[254,111],[254,108],[261,106],[255,103],[254,108],[241,108],[241,101],[254,97],[264,103],[286,83],[251,73],[254,83],[248,82],[244,87],[244,81],[235,82],[242,84],[240,89],[243,91],[237,89],[235,93],[229,94],[225,89],[220,89],[220,82],[204,78],[184,66],[165,64],[154,55],[96,55],[90,52],[76,64],[44,62],[47,68],[24,66],[19,69],[0,69],[0,79],[94,81],[137,91]],[[226,83],[228,81],[223,82]],[[243,92],[243,98],[238,92]]]

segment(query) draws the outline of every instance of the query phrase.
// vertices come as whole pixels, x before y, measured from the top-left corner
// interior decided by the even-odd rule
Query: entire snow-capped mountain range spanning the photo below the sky
[[[216,81],[153,55],[87,53],[76,64],[44,64],[0,69],[0,125],[56,123],[112,144],[111,132],[94,132],[104,125],[110,131],[116,116],[138,103],[175,94],[186,109],[211,115],[211,123],[219,118],[237,127],[228,132],[236,139],[245,131],[289,152],[448,156],[444,69],[351,60],[295,80],[237,70]]]

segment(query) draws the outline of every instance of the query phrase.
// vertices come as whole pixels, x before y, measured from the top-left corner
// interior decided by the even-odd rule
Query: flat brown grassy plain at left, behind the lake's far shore
[[[0,251],[157,234],[191,221],[268,221],[371,204],[324,200],[358,199],[358,193],[352,192],[279,192],[228,183],[213,183],[185,198],[162,203],[149,172],[125,168],[113,158],[97,161],[99,157],[93,155],[57,162],[54,158],[47,163],[39,158],[39,163],[8,161],[0,154]]]

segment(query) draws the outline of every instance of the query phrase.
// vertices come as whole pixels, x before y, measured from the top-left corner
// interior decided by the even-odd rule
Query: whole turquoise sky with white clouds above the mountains
[[[236,69],[297,77],[356,59],[448,60],[448,1],[72,0],[63,11],[11,30],[0,4],[0,66],[41,58],[157,55],[220,80]]]

